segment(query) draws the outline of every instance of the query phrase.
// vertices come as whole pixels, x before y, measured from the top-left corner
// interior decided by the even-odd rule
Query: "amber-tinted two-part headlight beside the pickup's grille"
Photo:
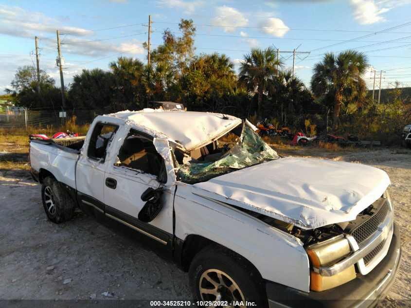
[[[312,266],[317,269],[320,267],[330,267],[351,254],[350,244],[342,235],[310,245],[305,250]],[[322,276],[312,269],[310,273],[310,289],[313,291],[328,290],[354,278],[356,278],[354,265],[333,276]]]

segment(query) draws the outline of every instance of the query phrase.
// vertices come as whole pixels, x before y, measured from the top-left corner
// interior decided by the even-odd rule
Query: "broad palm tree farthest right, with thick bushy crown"
[[[338,55],[327,53],[322,62],[314,66],[311,90],[316,96],[334,98],[333,129],[339,124],[342,103],[349,101],[363,105],[367,88],[361,76],[368,67],[365,54],[348,50]]]

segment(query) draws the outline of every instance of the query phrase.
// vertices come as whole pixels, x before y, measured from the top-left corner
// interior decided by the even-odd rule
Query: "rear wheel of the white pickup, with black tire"
[[[41,186],[41,200],[47,217],[54,223],[71,219],[75,204],[69,193],[54,177],[47,177]]]

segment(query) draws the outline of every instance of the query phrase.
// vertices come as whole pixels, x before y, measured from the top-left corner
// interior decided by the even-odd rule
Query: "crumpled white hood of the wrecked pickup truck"
[[[374,167],[287,157],[194,184],[192,192],[313,229],[355,219],[388,185]]]

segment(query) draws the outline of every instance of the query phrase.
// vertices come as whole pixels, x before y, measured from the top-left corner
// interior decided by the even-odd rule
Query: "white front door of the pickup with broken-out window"
[[[149,223],[138,219],[145,202],[143,192],[151,187],[161,188],[164,161],[150,136],[131,129],[124,132],[123,144],[112,150],[113,160],[107,165],[104,184],[104,203],[107,217],[128,227],[128,237],[149,246],[158,254],[169,251],[173,238],[174,190],[164,190],[162,209]],[[124,231],[124,229],[123,229]],[[171,249],[170,249],[171,255]]]

